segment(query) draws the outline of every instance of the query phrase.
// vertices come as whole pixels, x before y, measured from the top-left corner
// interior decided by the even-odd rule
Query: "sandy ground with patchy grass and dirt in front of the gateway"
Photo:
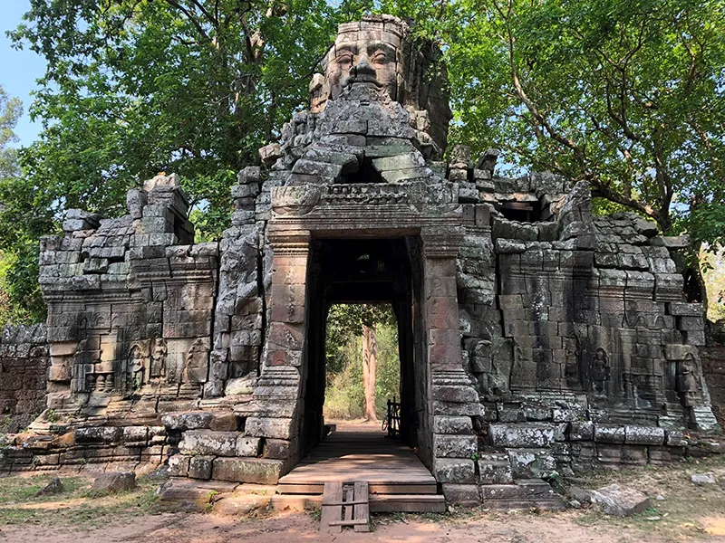
[[[691,474],[709,472],[716,483],[695,485]],[[92,477],[59,473],[63,494],[34,497],[52,475],[0,477],[0,543],[725,543],[725,455],[669,466],[593,472],[577,482],[600,488],[611,482],[642,491],[652,507],[625,519],[595,508],[561,512],[456,508],[445,515],[373,515],[371,533],[319,531],[311,512],[256,510],[252,517],[209,513],[158,513],[160,481],[140,478],[139,488],[118,495],[89,494]],[[211,500],[211,496],[209,499]]]

